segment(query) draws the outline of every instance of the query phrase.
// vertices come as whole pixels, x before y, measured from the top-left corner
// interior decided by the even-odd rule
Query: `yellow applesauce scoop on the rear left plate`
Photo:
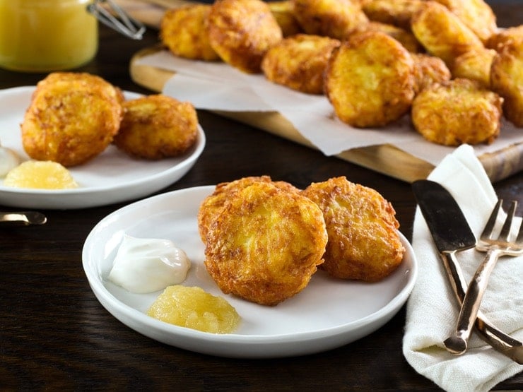
[[[69,170],[50,160],[28,160],[20,163],[6,174],[4,186],[36,189],[78,188]]]

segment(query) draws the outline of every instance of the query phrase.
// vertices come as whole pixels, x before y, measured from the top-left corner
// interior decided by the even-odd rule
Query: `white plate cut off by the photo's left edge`
[[[20,123],[30,103],[34,86],[0,90],[0,143],[12,148],[23,160],[25,154]],[[127,99],[139,94],[125,92]],[[133,200],[177,182],[194,165],[205,146],[205,134],[198,126],[196,144],[179,158],[158,161],[136,160],[110,145],[102,154],[84,165],[69,170],[78,189],[19,189],[2,185],[0,205],[21,208],[88,208]]]

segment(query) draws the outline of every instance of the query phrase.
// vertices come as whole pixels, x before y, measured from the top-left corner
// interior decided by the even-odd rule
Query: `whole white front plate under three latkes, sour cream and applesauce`
[[[302,292],[276,307],[264,307],[223,295],[204,266],[196,214],[214,186],[182,189],[132,203],[107,215],[88,235],[83,268],[90,287],[105,309],[139,333],[168,345],[223,357],[286,357],[345,345],[377,330],[396,314],[412,290],[418,267],[409,242],[399,268],[380,283],[329,278],[318,271]],[[233,334],[195,331],[158,321],[146,310],[161,291],[127,292],[107,275],[124,234],[171,239],[186,251],[192,267],[183,283],[228,299],[242,317]]]

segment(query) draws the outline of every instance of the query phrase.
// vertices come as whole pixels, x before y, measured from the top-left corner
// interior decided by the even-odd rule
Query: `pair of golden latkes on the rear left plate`
[[[30,158],[72,167],[111,143],[135,158],[175,157],[194,145],[197,126],[189,102],[161,94],[125,100],[99,76],[54,72],[37,83],[21,132]]]

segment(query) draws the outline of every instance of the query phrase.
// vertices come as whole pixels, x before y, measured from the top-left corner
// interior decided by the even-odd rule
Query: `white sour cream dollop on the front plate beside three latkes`
[[[129,292],[143,294],[182,283],[190,267],[187,254],[172,241],[124,234],[108,278]]]

